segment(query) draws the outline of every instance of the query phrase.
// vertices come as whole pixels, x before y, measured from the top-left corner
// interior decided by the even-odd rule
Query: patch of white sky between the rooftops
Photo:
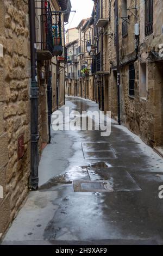
[[[65,28],[77,27],[82,19],[91,17],[93,3],[92,0],[71,0],[72,10],[76,10],[76,14],[70,14],[69,23]]]

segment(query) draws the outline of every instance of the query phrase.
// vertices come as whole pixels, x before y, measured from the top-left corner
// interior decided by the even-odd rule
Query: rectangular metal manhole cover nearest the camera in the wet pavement
[[[74,192],[112,192],[108,181],[73,181]]]

